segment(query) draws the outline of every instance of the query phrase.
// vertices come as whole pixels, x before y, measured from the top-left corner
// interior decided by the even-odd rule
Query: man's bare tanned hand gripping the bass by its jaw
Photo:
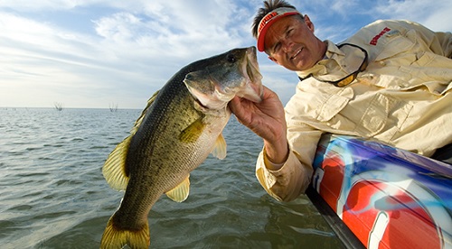
[[[264,87],[260,103],[234,97],[229,106],[240,124],[264,140],[269,161],[282,163],[287,160],[287,124],[284,106],[276,93]]]

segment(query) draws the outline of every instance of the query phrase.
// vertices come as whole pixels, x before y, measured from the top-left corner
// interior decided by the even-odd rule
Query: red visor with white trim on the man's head
[[[270,13],[266,14],[262,20],[259,22],[259,29],[258,29],[258,50],[264,51],[265,50],[265,33],[267,32],[268,28],[271,26],[271,24],[275,23],[279,18],[287,15],[292,14],[301,14],[297,12],[294,8],[287,8],[287,7],[281,7],[277,8]]]

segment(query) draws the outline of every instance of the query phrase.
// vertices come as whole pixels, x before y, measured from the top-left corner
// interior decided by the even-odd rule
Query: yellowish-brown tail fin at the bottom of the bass
[[[149,239],[149,225],[143,226],[139,230],[121,229],[115,226],[113,217],[108,220],[102,239],[100,240],[101,249],[122,248],[128,244],[130,248],[148,248],[150,244]]]

